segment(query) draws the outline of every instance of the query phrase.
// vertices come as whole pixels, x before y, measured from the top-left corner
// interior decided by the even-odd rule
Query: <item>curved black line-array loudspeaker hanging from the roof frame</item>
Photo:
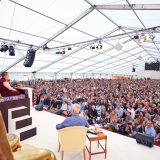
[[[32,64],[34,62],[35,54],[36,54],[36,51],[34,49],[29,49],[27,51],[27,55],[26,55],[25,61],[23,63],[23,65],[25,67],[31,67],[32,66]]]

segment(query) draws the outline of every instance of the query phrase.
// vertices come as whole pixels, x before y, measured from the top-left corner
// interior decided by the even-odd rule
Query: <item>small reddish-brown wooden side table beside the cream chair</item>
[[[107,155],[107,136],[104,133],[97,133],[97,135],[95,135],[94,137],[90,137],[89,135],[87,135],[87,138],[90,142],[90,146],[89,149],[86,146],[86,149],[89,153],[89,160],[91,160],[91,156],[92,155],[96,155],[96,154],[105,154],[105,159],[106,159],[106,155]],[[105,141],[105,146],[103,146],[100,143],[100,140],[104,140]],[[103,151],[101,152],[94,152],[92,153],[92,142],[97,141],[97,147],[99,148],[99,146],[102,148]]]

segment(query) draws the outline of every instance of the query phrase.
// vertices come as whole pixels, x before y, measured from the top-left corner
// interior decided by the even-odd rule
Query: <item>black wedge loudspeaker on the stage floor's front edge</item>
[[[154,137],[149,136],[147,134],[143,134],[143,133],[137,133],[136,141],[137,143],[146,145],[148,147],[153,147],[154,145]]]

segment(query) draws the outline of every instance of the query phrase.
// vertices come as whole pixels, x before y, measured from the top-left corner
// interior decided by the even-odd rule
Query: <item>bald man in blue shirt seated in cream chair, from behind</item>
[[[62,123],[56,125],[56,129],[62,129],[72,126],[84,126],[89,128],[89,124],[84,117],[79,116],[81,107],[79,104],[74,104],[72,107],[72,116],[66,118]]]

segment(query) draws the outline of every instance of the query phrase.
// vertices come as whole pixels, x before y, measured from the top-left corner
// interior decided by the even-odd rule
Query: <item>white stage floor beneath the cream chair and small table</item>
[[[56,124],[61,123],[64,117],[54,115],[46,111],[31,109],[33,125],[37,126],[37,135],[23,141],[41,148],[48,148],[54,152],[57,160],[60,160],[58,152],[58,135]],[[108,160],[160,160],[160,147],[148,148],[137,144],[135,139],[128,138],[110,131],[103,130],[108,137]],[[97,144],[93,144],[93,150],[97,151]],[[87,159],[88,153],[86,151]],[[65,160],[83,160],[82,152],[65,152]],[[93,155],[92,160],[104,160],[104,154]]]

